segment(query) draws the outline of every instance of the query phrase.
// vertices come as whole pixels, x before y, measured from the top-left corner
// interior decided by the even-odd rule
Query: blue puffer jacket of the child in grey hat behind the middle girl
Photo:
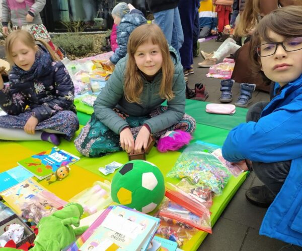
[[[147,20],[140,14],[126,14],[120,24],[117,27],[117,39],[118,48],[115,50],[114,54],[110,57],[110,61],[113,64],[126,56],[127,54],[127,44],[131,32],[138,26],[146,24]]]

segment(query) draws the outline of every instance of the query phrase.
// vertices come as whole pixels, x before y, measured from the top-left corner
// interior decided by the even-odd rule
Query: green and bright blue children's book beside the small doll
[[[43,180],[61,166],[71,165],[78,160],[80,160],[79,157],[67,153],[58,147],[53,147],[50,150],[21,160],[18,164],[30,171],[39,180]]]

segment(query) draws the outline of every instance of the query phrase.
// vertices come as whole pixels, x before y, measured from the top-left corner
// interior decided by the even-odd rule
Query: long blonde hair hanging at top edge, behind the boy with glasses
[[[246,37],[258,24],[259,0],[247,0],[234,30],[235,37]]]

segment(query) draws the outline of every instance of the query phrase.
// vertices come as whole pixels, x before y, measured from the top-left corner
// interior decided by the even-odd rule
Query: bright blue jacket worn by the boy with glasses
[[[276,87],[279,84],[276,83]],[[302,246],[302,75],[287,83],[258,122],[242,123],[226,138],[223,157],[272,163],[291,161],[289,174],[266,212],[260,234]]]

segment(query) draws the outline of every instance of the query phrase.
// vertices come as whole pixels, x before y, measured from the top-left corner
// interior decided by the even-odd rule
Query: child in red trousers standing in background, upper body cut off
[[[226,25],[230,24],[229,16],[232,12],[233,0],[213,0],[213,4],[216,5],[215,12],[218,16],[218,36],[217,42],[222,42],[222,32]]]

